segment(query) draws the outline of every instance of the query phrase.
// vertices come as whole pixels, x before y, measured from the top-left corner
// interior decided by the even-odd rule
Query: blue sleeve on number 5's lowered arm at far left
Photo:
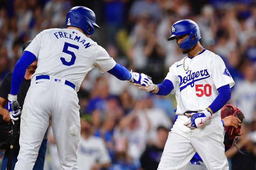
[[[13,73],[12,73],[12,83],[11,92],[12,95],[17,95],[20,89],[20,85],[25,76],[25,72],[28,66],[36,60],[36,55],[29,51],[25,51],[20,59],[17,61]]]

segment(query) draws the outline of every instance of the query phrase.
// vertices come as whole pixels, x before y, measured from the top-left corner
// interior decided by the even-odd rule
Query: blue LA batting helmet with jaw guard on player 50
[[[180,48],[189,49],[196,45],[197,41],[201,39],[201,33],[198,25],[190,20],[183,19],[175,22],[171,28],[172,36],[167,41],[175,39],[176,36],[189,34],[188,37],[180,43]],[[192,38],[195,36],[195,39]]]

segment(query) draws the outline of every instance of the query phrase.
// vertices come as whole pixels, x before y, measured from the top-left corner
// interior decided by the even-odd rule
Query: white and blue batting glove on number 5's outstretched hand
[[[140,74],[140,73],[132,72],[132,70],[130,71],[130,73],[132,75],[132,78],[129,80],[130,82],[137,83],[146,87],[152,84],[152,80],[147,75],[143,73]]]

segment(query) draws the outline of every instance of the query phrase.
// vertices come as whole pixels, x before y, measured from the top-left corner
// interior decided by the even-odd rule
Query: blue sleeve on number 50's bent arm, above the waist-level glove
[[[220,110],[231,98],[231,90],[229,85],[223,85],[217,89],[219,94],[213,100],[212,104],[209,106],[212,109],[212,112],[215,113]]]

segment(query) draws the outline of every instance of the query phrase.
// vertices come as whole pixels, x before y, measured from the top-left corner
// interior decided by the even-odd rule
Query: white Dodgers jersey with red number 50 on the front
[[[223,60],[209,50],[192,59],[185,59],[185,71],[182,60],[174,63],[165,79],[172,81],[177,100],[176,114],[186,111],[201,111],[211,105],[223,85],[230,88],[235,84]]]

